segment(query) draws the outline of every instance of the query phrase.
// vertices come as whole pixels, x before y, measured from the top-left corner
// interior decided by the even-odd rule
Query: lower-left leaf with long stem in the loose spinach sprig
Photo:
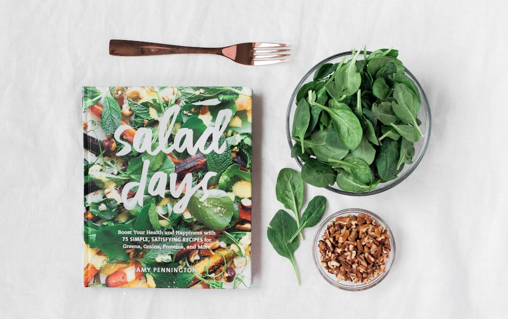
[[[298,273],[294,256],[299,245],[299,240],[295,239],[290,241],[297,229],[298,226],[296,221],[284,210],[279,210],[270,221],[270,226],[267,229],[267,236],[275,251],[282,257],[286,257],[290,260],[295,270],[298,284],[300,284],[300,274]]]

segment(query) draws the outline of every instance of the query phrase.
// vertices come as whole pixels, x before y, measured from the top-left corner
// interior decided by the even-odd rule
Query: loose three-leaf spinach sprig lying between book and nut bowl
[[[291,217],[288,212],[279,210],[275,213],[267,229],[268,240],[279,255],[290,260],[295,270],[298,284],[300,284],[300,274],[298,273],[294,256],[300,244],[297,236],[300,235],[303,240],[302,230],[319,223],[325,213],[326,198],[321,195],[312,198],[300,218],[300,210],[303,206],[304,185],[300,173],[292,168],[282,168],[280,170],[277,176],[275,192],[277,200],[285,208],[292,210],[296,219]]]

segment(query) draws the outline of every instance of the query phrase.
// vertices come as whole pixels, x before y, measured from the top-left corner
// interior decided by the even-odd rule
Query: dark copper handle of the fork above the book
[[[109,41],[109,54],[111,55],[141,56],[182,53],[208,53],[220,55],[221,48],[198,48],[130,40]]]

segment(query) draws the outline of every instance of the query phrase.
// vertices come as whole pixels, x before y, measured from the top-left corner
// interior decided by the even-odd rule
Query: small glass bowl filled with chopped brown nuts
[[[363,209],[345,209],[317,229],[314,264],[335,287],[362,291],[381,282],[395,259],[395,239],[387,223]]]

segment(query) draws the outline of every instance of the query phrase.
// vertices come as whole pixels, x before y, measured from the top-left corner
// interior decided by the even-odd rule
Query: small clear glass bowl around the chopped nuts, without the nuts
[[[386,227],[387,233],[390,236],[390,245],[392,249],[390,250],[388,261],[385,263],[386,270],[384,273],[379,274],[377,277],[373,278],[369,283],[357,282],[354,283],[352,281],[337,281],[337,277],[334,274],[329,273],[323,266],[321,266],[321,253],[317,244],[320,240],[322,240],[322,236],[325,234],[325,230],[327,226],[330,224],[332,220],[335,220],[336,217],[348,216],[348,215],[358,216],[359,214],[365,214],[371,216],[372,219],[377,220],[377,222]],[[392,230],[388,227],[388,224],[376,214],[369,212],[360,208],[348,208],[342,211],[339,211],[330,217],[327,218],[320,226],[317,228],[316,234],[314,236],[313,246],[312,246],[312,257],[314,259],[314,264],[319,271],[320,275],[331,285],[334,287],[347,290],[347,291],[362,291],[368,288],[371,288],[381,282],[390,272],[392,268],[393,262],[395,260],[395,238],[393,237]]]

